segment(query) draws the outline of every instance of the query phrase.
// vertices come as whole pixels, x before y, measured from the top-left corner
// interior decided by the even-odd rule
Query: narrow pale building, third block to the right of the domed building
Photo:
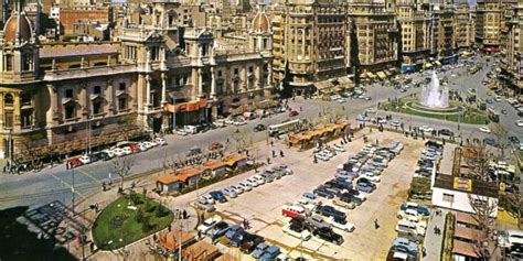
[[[402,72],[414,72],[423,67],[430,55],[430,14],[428,4],[412,0],[395,2],[399,26],[399,51]]]

